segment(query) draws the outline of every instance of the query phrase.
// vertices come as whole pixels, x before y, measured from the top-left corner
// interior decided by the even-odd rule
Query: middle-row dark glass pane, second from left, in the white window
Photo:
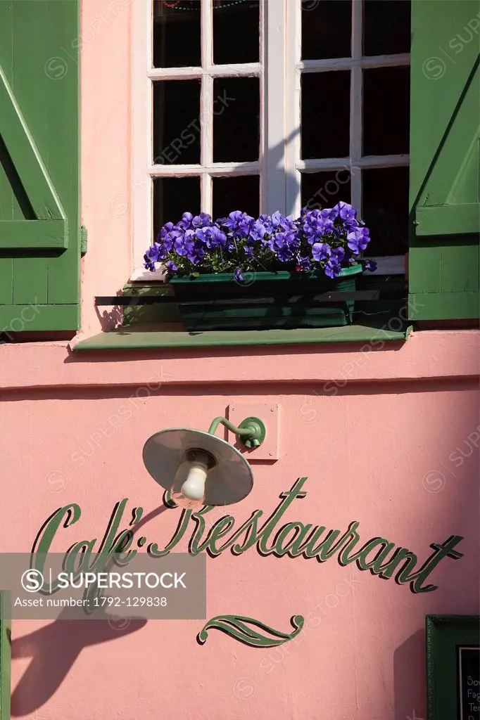
[[[259,78],[215,78],[213,98],[213,162],[258,160]]]

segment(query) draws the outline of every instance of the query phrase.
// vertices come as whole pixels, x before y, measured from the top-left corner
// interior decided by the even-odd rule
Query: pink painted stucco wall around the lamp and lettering
[[[114,16],[105,0],[82,8],[86,335],[100,328],[94,295],[115,293],[131,264],[131,6],[117,5]],[[119,196],[128,201],[120,214]],[[362,541],[383,536],[419,562],[431,543],[464,538],[463,557],[443,559],[430,576],[438,589],[417,595],[335,558],[277,559],[253,548],[208,558],[208,618],[251,616],[285,631],[290,616],[306,618],[298,639],[277,649],[216,631],[200,647],[202,621],[14,622],[12,717],[425,718],[425,615],[479,607],[478,339],[437,331],[382,349],[103,355],[76,355],[67,343],[0,346],[1,552],[29,552],[45,519],[68,503],[82,514],[58,534],[59,552],[101,538],[118,500],[129,498],[128,519],[138,505],[152,513],[161,492],[143,467],[146,438],[171,426],[208,428],[240,402],[280,406],[280,445],[277,462],[252,459],[254,489],[229,509],[238,524],[257,508],[270,514],[280,492],[307,476],[306,498],[282,524],[343,531],[359,521]],[[153,513],[143,534],[165,544],[178,514]]]

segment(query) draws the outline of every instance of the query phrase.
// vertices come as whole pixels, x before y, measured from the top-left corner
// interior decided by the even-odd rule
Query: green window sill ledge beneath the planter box
[[[298,328],[290,330],[215,330],[188,333],[182,325],[164,329],[125,327],[108,330],[77,343],[76,351],[133,350],[135,348],[205,348],[259,345],[311,345],[329,343],[404,342],[412,330],[405,324],[388,330],[383,323],[345,325],[342,328]]]

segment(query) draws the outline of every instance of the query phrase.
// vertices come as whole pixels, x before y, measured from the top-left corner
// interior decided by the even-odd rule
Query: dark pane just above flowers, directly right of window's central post
[[[350,170],[301,174],[301,207],[321,210],[343,200],[350,202]]]

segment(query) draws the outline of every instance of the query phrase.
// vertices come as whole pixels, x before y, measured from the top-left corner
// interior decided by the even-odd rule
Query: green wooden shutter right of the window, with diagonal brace
[[[409,305],[479,317],[479,0],[412,0]]]

